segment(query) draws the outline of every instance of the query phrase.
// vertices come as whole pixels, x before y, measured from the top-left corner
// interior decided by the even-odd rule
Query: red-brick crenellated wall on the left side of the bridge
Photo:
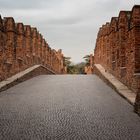
[[[36,28],[0,16],[0,81],[36,64],[56,74],[66,70],[62,52],[51,49]]]

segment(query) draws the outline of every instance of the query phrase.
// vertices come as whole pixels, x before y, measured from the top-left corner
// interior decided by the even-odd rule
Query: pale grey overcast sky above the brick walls
[[[0,0],[2,17],[37,27],[49,46],[74,63],[94,52],[99,27],[140,0]]]

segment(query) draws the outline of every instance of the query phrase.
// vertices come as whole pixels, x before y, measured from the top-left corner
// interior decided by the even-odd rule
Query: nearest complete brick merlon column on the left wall
[[[16,29],[15,21],[12,17],[4,18],[4,31],[6,34],[6,50],[4,59],[4,71],[7,76],[15,74],[16,59]],[[12,69],[12,70],[11,70]]]

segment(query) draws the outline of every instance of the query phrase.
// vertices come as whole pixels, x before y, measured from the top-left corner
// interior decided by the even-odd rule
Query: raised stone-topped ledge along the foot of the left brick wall
[[[23,82],[25,80],[28,80],[32,77],[35,77],[37,75],[41,74],[55,74],[52,70],[50,70],[47,67],[44,67],[43,65],[34,65],[30,68],[25,69],[24,71],[21,71],[12,77],[0,82],[0,92],[4,91],[20,82]]]

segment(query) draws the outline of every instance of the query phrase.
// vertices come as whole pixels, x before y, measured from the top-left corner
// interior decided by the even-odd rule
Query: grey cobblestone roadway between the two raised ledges
[[[0,93],[0,140],[140,140],[140,117],[95,75],[42,75]]]

